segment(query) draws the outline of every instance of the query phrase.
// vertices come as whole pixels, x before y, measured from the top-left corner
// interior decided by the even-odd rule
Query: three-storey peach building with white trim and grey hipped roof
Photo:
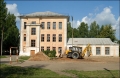
[[[44,50],[56,50],[56,55],[59,49],[65,52],[69,16],[47,11],[19,17],[20,56],[30,56]]]

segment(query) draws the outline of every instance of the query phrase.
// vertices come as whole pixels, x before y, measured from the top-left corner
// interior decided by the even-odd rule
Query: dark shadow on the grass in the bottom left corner
[[[46,65],[32,65],[26,67],[10,66],[6,64],[0,64],[0,78],[25,78],[33,77],[36,71],[42,70],[42,67]]]

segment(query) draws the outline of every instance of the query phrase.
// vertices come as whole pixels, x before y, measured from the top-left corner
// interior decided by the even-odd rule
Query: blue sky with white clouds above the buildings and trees
[[[91,24],[96,21],[99,25],[111,24],[116,29],[119,38],[120,1],[14,1],[5,0],[10,13],[19,16],[34,12],[51,11],[73,16],[73,27],[77,28],[81,22]],[[17,17],[17,26],[20,29],[20,19]],[[120,39],[120,38],[119,38]]]

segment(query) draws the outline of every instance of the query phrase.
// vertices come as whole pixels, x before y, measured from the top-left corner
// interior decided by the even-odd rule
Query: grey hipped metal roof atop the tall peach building
[[[22,16],[67,16],[67,15],[46,11],[46,12],[30,13],[30,14],[26,14],[26,15],[22,15]]]

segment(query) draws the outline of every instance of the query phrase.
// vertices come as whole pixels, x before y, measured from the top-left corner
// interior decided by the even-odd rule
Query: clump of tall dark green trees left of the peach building
[[[18,47],[19,30],[16,26],[16,17],[10,14],[4,0],[0,0],[0,33],[3,32],[3,50],[9,50],[11,46]],[[0,34],[0,40],[2,34]]]

